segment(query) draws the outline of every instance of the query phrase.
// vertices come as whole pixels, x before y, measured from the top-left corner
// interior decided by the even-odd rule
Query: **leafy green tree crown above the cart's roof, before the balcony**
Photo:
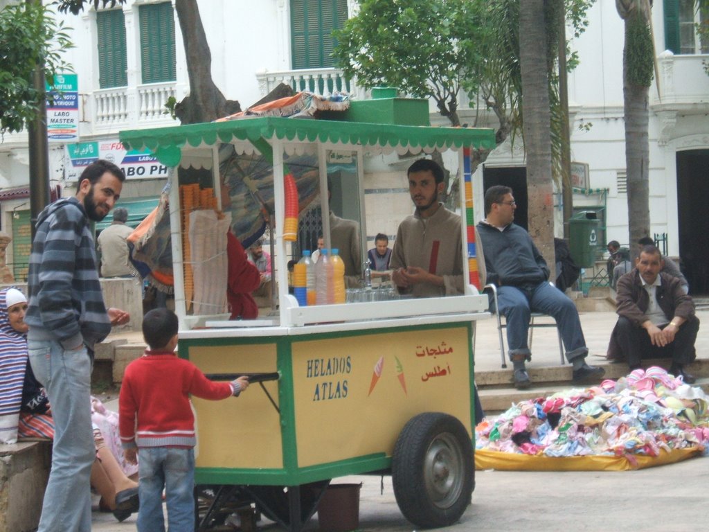
[[[484,61],[478,43],[491,28],[482,23],[481,0],[363,0],[357,16],[335,32],[336,64],[365,88],[397,87],[435,99],[457,121],[462,79]]]

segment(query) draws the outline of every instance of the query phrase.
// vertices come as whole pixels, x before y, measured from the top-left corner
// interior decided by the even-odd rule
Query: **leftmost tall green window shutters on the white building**
[[[99,87],[128,85],[128,55],[125,51],[125,19],[123,10],[111,9],[96,13],[99,46]]]

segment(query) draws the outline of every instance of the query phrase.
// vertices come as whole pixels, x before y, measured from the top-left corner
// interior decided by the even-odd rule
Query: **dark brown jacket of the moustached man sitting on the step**
[[[695,320],[694,301],[684,293],[681,280],[666,273],[660,273],[659,276],[661,284],[657,287],[655,298],[667,321],[671,321],[674,317],[685,318],[687,321]],[[618,295],[615,299],[615,304],[618,316],[629,319],[638,327],[649,319],[645,312],[647,312],[650,300],[647,290],[642,287],[640,272],[637,268],[633,268],[618,279],[616,291]],[[615,337],[617,328],[618,324],[613,328],[613,332],[610,333],[610,343],[606,354],[606,358],[611,360],[624,358],[618,340]]]

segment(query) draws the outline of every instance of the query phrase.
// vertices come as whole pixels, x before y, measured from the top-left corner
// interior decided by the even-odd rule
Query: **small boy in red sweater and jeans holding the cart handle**
[[[162,490],[170,532],[194,532],[194,415],[189,395],[201,399],[238,396],[248,377],[211,382],[197,367],[174,353],[177,316],[154,309],[143,318],[145,355],[125,368],[119,427],[126,460],[138,473],[138,532],[164,532]]]

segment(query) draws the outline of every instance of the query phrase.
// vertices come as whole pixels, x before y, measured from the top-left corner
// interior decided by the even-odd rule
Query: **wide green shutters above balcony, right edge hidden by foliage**
[[[291,0],[293,68],[333,66],[333,30],[347,20],[347,0]]]

